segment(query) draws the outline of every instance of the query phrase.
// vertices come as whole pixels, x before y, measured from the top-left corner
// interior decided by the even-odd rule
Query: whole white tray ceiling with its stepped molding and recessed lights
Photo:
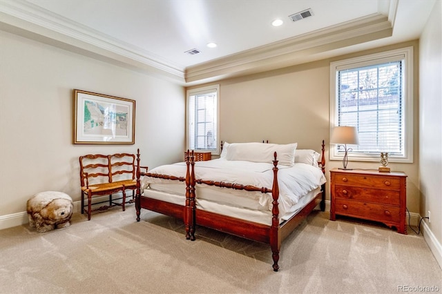
[[[0,0],[0,29],[191,85],[417,39],[434,3]]]

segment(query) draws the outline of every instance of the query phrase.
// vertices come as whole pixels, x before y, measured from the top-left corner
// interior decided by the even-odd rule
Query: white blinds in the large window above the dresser
[[[356,126],[355,153],[404,155],[403,60],[338,71],[338,126]]]

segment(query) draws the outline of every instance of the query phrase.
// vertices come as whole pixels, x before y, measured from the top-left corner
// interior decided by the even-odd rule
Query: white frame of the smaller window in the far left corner
[[[197,149],[196,152],[210,152],[212,155],[220,155],[220,85],[204,86],[201,88],[193,88],[186,90],[186,149],[190,150],[190,135],[189,130],[189,114],[190,112],[190,97],[193,95],[201,95],[209,92],[216,92],[216,149]]]

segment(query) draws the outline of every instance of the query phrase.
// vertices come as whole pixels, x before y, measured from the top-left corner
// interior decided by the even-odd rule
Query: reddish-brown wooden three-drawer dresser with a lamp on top
[[[369,219],[406,234],[406,180],[402,172],[330,170],[330,219],[336,215]]]

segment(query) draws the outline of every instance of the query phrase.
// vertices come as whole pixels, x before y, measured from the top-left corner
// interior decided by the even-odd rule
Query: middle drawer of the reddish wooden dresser
[[[353,199],[361,202],[376,202],[391,205],[399,205],[401,203],[401,193],[399,191],[356,186],[336,185],[334,187],[334,197],[336,197],[336,199]]]

